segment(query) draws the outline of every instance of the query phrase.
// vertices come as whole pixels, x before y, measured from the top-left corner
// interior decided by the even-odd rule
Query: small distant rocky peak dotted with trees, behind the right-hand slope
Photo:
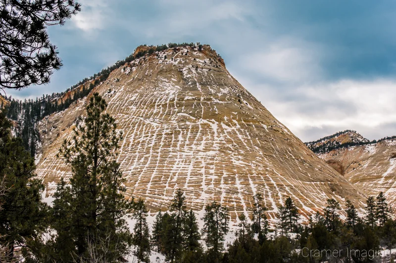
[[[358,134],[356,131],[345,130],[323,137],[314,142],[305,143],[305,145],[315,153],[325,153],[335,149],[368,143],[370,143],[370,141]]]

